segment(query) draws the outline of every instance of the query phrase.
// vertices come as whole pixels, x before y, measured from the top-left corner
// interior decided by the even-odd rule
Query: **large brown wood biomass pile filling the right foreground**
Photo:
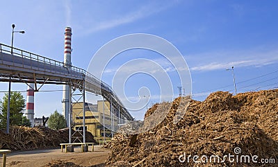
[[[170,106],[170,112],[156,128],[138,135],[116,134],[109,144],[111,155],[106,164],[124,161],[125,166],[260,166],[252,161],[256,155],[255,160],[275,159],[275,164],[267,166],[278,166],[278,89],[236,96],[218,91],[203,102],[190,100],[186,114],[175,124],[181,100],[156,104],[147,111],[145,120],[160,105]],[[248,155],[250,163],[224,159],[229,154]],[[201,163],[193,161],[195,155],[199,156],[195,161]],[[200,159],[203,155],[208,159]],[[215,160],[210,160],[211,156]],[[218,163],[217,156],[224,162]]]

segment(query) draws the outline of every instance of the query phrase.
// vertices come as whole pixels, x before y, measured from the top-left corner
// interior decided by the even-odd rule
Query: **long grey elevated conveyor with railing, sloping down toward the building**
[[[44,84],[72,85],[72,87],[99,94],[112,101],[112,105],[120,109],[127,120],[133,120],[131,114],[105,82],[99,80],[88,71],[71,66],[67,68],[58,62],[41,55],[0,44],[0,81],[2,82],[36,82]]]

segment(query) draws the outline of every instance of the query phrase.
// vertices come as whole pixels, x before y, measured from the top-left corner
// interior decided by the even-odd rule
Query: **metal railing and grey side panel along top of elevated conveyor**
[[[116,96],[112,87],[106,84],[105,82],[99,80],[99,78],[95,77],[94,75],[92,75],[92,73],[89,73],[84,69],[65,64],[64,62],[59,62],[57,60],[46,58],[42,55],[38,55],[28,51],[23,51],[22,49],[17,49],[15,47],[13,47],[13,51],[12,51],[11,46],[8,46],[6,44],[1,44],[1,43],[0,43],[0,52],[14,55],[11,56],[12,58],[11,63],[21,64],[21,66],[24,68],[31,68],[31,69],[37,68],[38,70],[40,69],[44,71],[51,71],[54,73],[71,76],[74,79],[79,78],[81,80],[86,80],[92,85],[97,85],[97,87],[99,87],[101,90],[108,91],[108,93],[111,94],[112,98],[114,98],[115,102],[121,105],[125,110],[125,112],[127,112],[121,100]],[[1,60],[3,60],[3,58],[1,58]],[[26,62],[26,60],[29,62]],[[3,64],[3,62],[0,63]]]

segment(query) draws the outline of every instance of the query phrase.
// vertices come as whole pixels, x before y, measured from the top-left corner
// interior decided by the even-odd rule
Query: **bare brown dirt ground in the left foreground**
[[[89,150],[91,148],[89,147]],[[74,152],[61,152],[60,149],[31,150],[11,152],[7,155],[6,166],[29,167],[44,166],[53,160],[73,162],[76,165],[92,166],[103,164],[110,150],[95,146],[94,152],[81,152],[80,147],[74,148]],[[2,161],[2,158],[0,158]]]

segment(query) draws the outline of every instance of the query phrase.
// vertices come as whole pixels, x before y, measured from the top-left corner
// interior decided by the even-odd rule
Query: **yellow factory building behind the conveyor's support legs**
[[[72,120],[74,130],[83,130],[83,102],[72,103]],[[91,132],[97,141],[103,140],[104,135],[106,139],[111,138],[112,132],[108,128],[111,128],[112,124],[117,127],[119,121],[117,116],[114,116],[111,121],[108,101],[98,100],[97,105],[85,103],[85,130]],[[103,124],[105,124],[105,130]]]

